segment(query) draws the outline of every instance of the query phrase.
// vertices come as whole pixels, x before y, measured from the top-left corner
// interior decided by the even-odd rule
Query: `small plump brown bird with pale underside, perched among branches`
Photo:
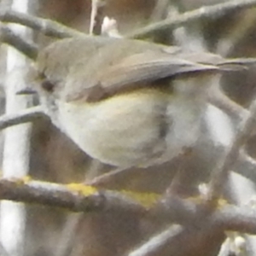
[[[125,38],[68,38],[39,53],[38,93],[53,123],[91,157],[152,166],[195,145],[212,75],[249,62]]]

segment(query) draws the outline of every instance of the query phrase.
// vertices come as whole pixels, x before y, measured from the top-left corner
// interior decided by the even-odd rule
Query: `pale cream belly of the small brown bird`
[[[59,121],[85,153],[103,163],[130,167],[171,160],[184,146],[194,143],[198,129],[193,126],[200,113],[173,108],[170,96],[163,91],[145,92],[138,90],[90,104],[58,102]],[[180,120],[173,120],[173,114],[180,114]]]

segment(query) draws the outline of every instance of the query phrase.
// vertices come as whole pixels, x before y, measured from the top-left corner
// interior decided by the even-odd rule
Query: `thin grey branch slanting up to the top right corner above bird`
[[[212,6],[201,7],[177,15],[175,19],[168,18],[166,20],[156,22],[154,24],[138,29],[127,35],[128,38],[145,38],[154,35],[155,32],[165,31],[166,29],[174,29],[177,26],[184,26],[201,19],[218,19],[221,16],[228,15],[241,9],[248,9],[256,5],[256,0],[236,0],[228,3],[218,3]]]

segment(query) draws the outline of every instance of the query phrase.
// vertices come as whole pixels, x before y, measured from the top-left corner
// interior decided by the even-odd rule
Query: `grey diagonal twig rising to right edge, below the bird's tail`
[[[239,151],[241,146],[247,142],[248,137],[256,127],[256,99],[253,100],[249,108],[249,114],[241,122],[240,128],[236,134],[234,143],[222,160],[219,161],[218,166],[212,172],[211,183],[209,185],[209,193],[206,197],[207,202],[215,204],[219,195],[222,194],[224,183],[227,180],[228,173],[239,159]]]

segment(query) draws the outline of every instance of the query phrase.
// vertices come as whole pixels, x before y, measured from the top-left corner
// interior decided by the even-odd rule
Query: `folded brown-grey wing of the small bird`
[[[88,102],[96,102],[119,91],[145,87],[160,79],[172,79],[184,73],[214,72],[218,69],[219,67],[214,65],[187,61],[161,52],[146,51],[101,68],[102,72],[97,73],[94,79],[84,76],[84,81],[79,81],[84,87],[80,87],[76,94],[67,93],[67,101],[86,98]]]

